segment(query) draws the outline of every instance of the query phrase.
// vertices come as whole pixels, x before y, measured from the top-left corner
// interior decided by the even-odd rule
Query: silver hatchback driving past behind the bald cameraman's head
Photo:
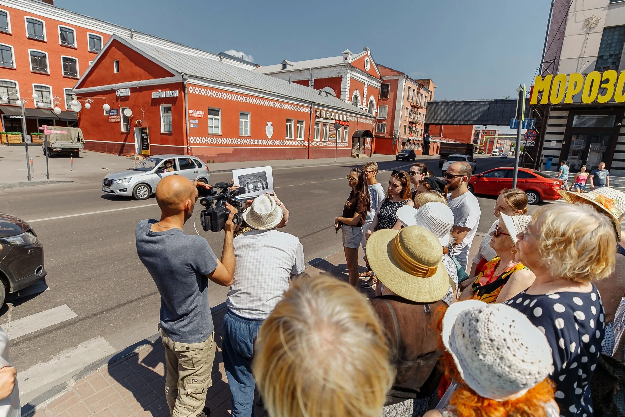
[[[161,179],[170,175],[183,175],[206,184],[211,181],[208,166],[195,156],[158,155],[143,159],[126,171],[107,174],[102,191],[144,200],[154,194]]]

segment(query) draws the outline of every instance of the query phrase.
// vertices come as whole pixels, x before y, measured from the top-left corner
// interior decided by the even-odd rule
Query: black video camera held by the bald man
[[[199,188],[199,195],[202,199],[199,201],[202,206],[206,207],[200,212],[200,221],[204,231],[219,232],[226,226],[226,221],[230,211],[226,208],[226,203],[231,204],[239,213],[234,214],[234,223],[241,225],[243,215],[241,214],[245,203],[237,198],[237,196],[245,193],[245,188],[236,188],[230,191],[231,183],[216,183],[211,189]],[[217,191],[220,189],[221,192]]]

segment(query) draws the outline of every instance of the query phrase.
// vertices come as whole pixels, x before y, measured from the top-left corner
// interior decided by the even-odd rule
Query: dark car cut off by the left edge
[[[7,293],[46,278],[43,246],[31,226],[22,219],[0,213],[0,306]]]

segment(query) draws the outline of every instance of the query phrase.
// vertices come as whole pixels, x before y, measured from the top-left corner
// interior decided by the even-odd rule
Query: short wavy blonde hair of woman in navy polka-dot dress
[[[584,283],[614,269],[614,226],[586,204],[537,208],[530,226],[540,231],[536,249],[552,276]]]

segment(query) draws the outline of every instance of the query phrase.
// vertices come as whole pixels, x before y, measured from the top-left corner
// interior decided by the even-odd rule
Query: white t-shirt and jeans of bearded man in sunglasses
[[[477,225],[479,224],[482,211],[479,208],[479,201],[477,201],[476,196],[470,192],[454,199],[451,198],[451,194],[447,194],[447,203],[449,203],[449,208],[454,213],[454,226],[469,229],[462,242],[454,246],[456,260],[461,264],[462,268],[466,268],[469,261],[469,249],[471,249],[471,242],[477,232]]]

